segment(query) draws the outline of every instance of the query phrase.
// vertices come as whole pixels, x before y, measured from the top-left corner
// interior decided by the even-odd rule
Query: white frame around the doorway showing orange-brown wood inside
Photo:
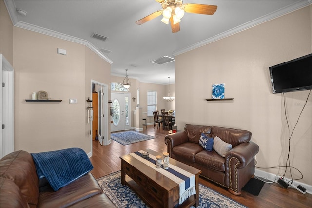
[[[108,86],[107,84],[104,84],[104,83],[100,83],[98,81],[95,81],[95,80],[91,80],[91,85],[90,85],[90,98],[92,98],[92,84],[97,84],[99,86],[101,86],[103,88],[103,92],[104,92],[104,96],[103,96],[103,109],[102,109],[102,112],[104,113],[104,119],[103,119],[103,122],[102,122],[102,126],[103,126],[103,131],[102,132],[102,135],[104,136],[104,139],[102,138],[98,138],[98,141],[101,145],[109,145],[111,144],[111,138],[108,137]],[[98,106],[100,107],[100,106]],[[100,111],[98,111],[100,112]],[[100,118],[99,115],[98,116],[94,116],[94,118]],[[90,126],[91,126],[91,129],[92,129],[92,122],[90,122]],[[92,155],[92,138],[93,138],[93,135],[92,135],[92,131],[91,131],[91,135],[90,135],[90,142],[91,142],[91,155]]]

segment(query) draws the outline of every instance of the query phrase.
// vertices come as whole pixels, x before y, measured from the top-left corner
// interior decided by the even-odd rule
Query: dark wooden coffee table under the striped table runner
[[[144,151],[154,156],[162,155],[151,149]],[[131,155],[121,156],[121,184],[129,186],[149,206],[153,208],[185,208],[199,204],[198,177],[201,170],[170,158],[170,164],[195,175],[196,195],[190,196],[179,205],[179,184],[140,162]]]

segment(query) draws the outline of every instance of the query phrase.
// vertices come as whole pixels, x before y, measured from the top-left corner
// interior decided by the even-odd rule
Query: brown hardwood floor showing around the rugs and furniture
[[[93,141],[93,156],[90,158],[94,169],[91,171],[95,178],[108,175],[110,173],[121,170],[120,156],[131,152],[146,148],[153,149],[158,152],[166,152],[167,146],[164,143],[165,135],[168,130],[163,130],[153,125],[147,125],[147,130],[140,131],[155,139],[134,143],[131,145],[121,145],[112,140],[108,146],[101,146],[98,141]],[[234,201],[243,204],[250,208],[311,208],[312,195],[301,194],[299,191],[292,188],[282,188],[277,183],[264,184],[259,196],[254,196],[245,191],[242,191],[240,196],[234,196],[227,191],[226,188],[218,186],[204,178],[199,179],[199,183],[210,187]]]

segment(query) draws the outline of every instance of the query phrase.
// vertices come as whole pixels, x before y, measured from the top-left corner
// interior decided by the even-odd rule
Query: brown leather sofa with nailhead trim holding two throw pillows
[[[218,136],[232,144],[232,149],[225,157],[215,150],[205,150],[199,145],[201,133]],[[251,136],[246,130],[186,124],[184,131],[167,135],[165,143],[171,158],[200,169],[201,176],[240,195],[242,187],[254,175],[254,157],[259,151],[259,146],[250,141]]]

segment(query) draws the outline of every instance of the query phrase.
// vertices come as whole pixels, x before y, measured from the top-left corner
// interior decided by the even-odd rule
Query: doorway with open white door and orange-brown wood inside
[[[95,80],[91,80],[91,98],[97,98],[92,102],[94,109],[94,120],[96,122],[90,122],[91,129],[95,129],[94,133],[91,131],[91,151],[92,151],[92,141],[97,138],[101,145],[109,145],[111,143],[111,138],[108,136],[108,92],[107,85],[104,83],[99,83]],[[97,126],[93,126],[97,125]]]

